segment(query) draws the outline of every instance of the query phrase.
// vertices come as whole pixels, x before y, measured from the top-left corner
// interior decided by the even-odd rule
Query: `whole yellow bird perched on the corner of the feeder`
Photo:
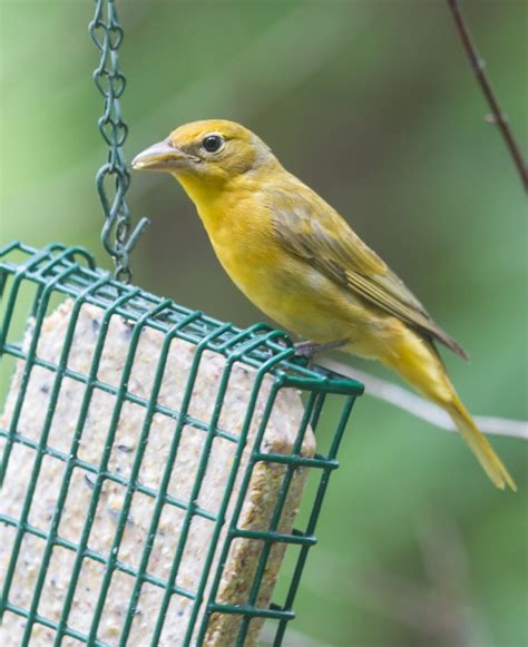
[[[434,347],[465,351],[315,192],[243,126],[186,124],[134,160],[166,171],[196,205],[227,274],[257,307],[304,340],[380,360],[451,415],[491,481],[515,482],[477,429]]]

